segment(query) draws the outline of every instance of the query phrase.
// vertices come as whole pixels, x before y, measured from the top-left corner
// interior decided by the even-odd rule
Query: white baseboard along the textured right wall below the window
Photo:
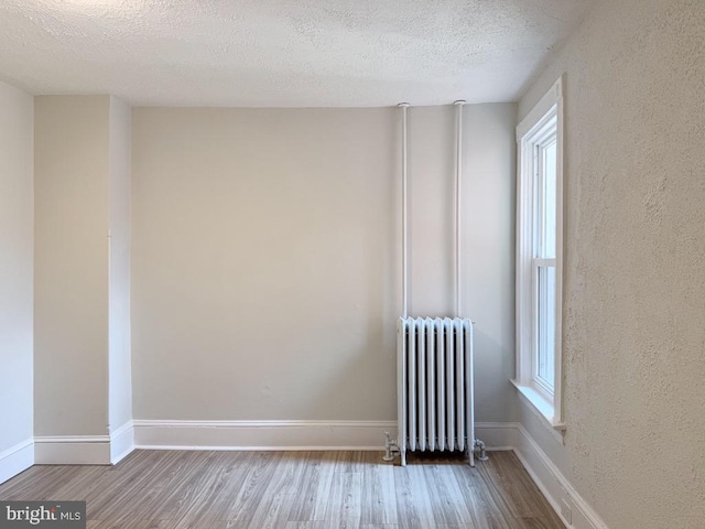
[[[514,452],[539,489],[546,497],[565,527],[575,529],[608,529],[587,501],[575,490],[541,446],[521,424],[516,424]],[[565,508],[570,515],[564,514]],[[564,516],[565,515],[565,516]],[[568,520],[567,517],[571,517]]]

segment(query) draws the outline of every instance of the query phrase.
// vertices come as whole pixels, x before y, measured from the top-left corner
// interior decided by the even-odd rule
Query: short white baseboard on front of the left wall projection
[[[109,465],[108,435],[56,435],[34,438],[37,465]]]

